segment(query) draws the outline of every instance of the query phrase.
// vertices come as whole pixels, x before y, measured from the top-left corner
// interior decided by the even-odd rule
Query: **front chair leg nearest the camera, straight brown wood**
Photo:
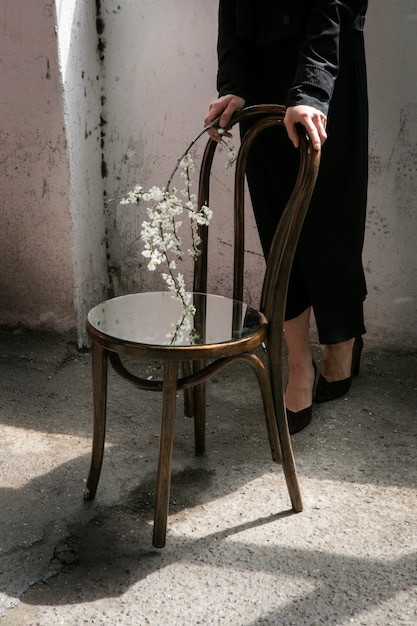
[[[172,450],[176,412],[178,363],[167,361],[162,387],[162,419],[156,479],[153,545],[163,548],[166,541],[169,493],[171,488]]]

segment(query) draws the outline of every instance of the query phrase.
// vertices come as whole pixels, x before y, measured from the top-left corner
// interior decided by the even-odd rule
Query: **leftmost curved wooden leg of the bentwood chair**
[[[93,449],[84,499],[92,500],[97,491],[104,455],[106,436],[108,350],[93,342]]]

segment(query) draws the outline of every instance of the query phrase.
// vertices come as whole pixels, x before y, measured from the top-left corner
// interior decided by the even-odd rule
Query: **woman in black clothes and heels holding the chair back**
[[[296,124],[304,125],[316,149],[322,146],[287,299],[285,402],[291,433],[312,417],[312,309],[323,345],[316,401],[347,393],[359,370],[366,297],[361,259],[368,159],[366,9],[367,0],[220,0],[219,5],[219,98],[210,104],[205,125],[219,117],[222,127],[247,105],[287,107],[284,123],[291,141],[279,129],[265,131],[247,167],[265,256],[295,181]],[[219,140],[216,129],[209,133]]]

